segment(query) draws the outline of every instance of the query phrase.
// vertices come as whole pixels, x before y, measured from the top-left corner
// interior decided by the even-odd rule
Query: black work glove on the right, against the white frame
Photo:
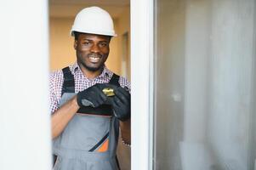
[[[128,90],[118,87],[115,89],[115,96],[112,99],[114,115],[120,121],[127,121],[131,116],[131,94]]]

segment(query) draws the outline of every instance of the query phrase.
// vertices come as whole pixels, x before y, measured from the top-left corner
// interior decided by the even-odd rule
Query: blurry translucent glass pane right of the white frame
[[[156,169],[253,170],[254,1],[156,4]]]

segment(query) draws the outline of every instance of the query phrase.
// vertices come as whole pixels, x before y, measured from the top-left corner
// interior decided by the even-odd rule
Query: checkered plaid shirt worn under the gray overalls
[[[111,80],[113,72],[107,69],[104,66],[104,70],[101,72],[100,76],[95,77],[94,79],[88,79],[82,74],[80,67],[77,65],[77,62],[73,65],[69,65],[71,73],[75,78],[75,93],[78,93],[86,88],[93,86],[96,83],[107,83]],[[61,90],[64,82],[63,72],[54,71],[50,74],[50,111],[54,113],[57,109],[60,108],[60,98]],[[131,86],[130,82],[124,77],[119,78],[119,83],[122,88],[127,87],[130,91]]]

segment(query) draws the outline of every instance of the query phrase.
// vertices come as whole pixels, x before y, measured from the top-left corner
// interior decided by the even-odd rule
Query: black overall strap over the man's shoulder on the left
[[[64,93],[75,93],[75,79],[71,73],[70,68],[67,66],[62,69],[64,82],[62,85],[61,95]]]

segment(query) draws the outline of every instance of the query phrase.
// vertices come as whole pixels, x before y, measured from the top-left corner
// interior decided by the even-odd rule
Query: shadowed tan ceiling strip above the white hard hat
[[[82,8],[99,6],[107,10],[115,19],[123,8],[129,8],[129,0],[49,0],[51,17],[74,17]]]

